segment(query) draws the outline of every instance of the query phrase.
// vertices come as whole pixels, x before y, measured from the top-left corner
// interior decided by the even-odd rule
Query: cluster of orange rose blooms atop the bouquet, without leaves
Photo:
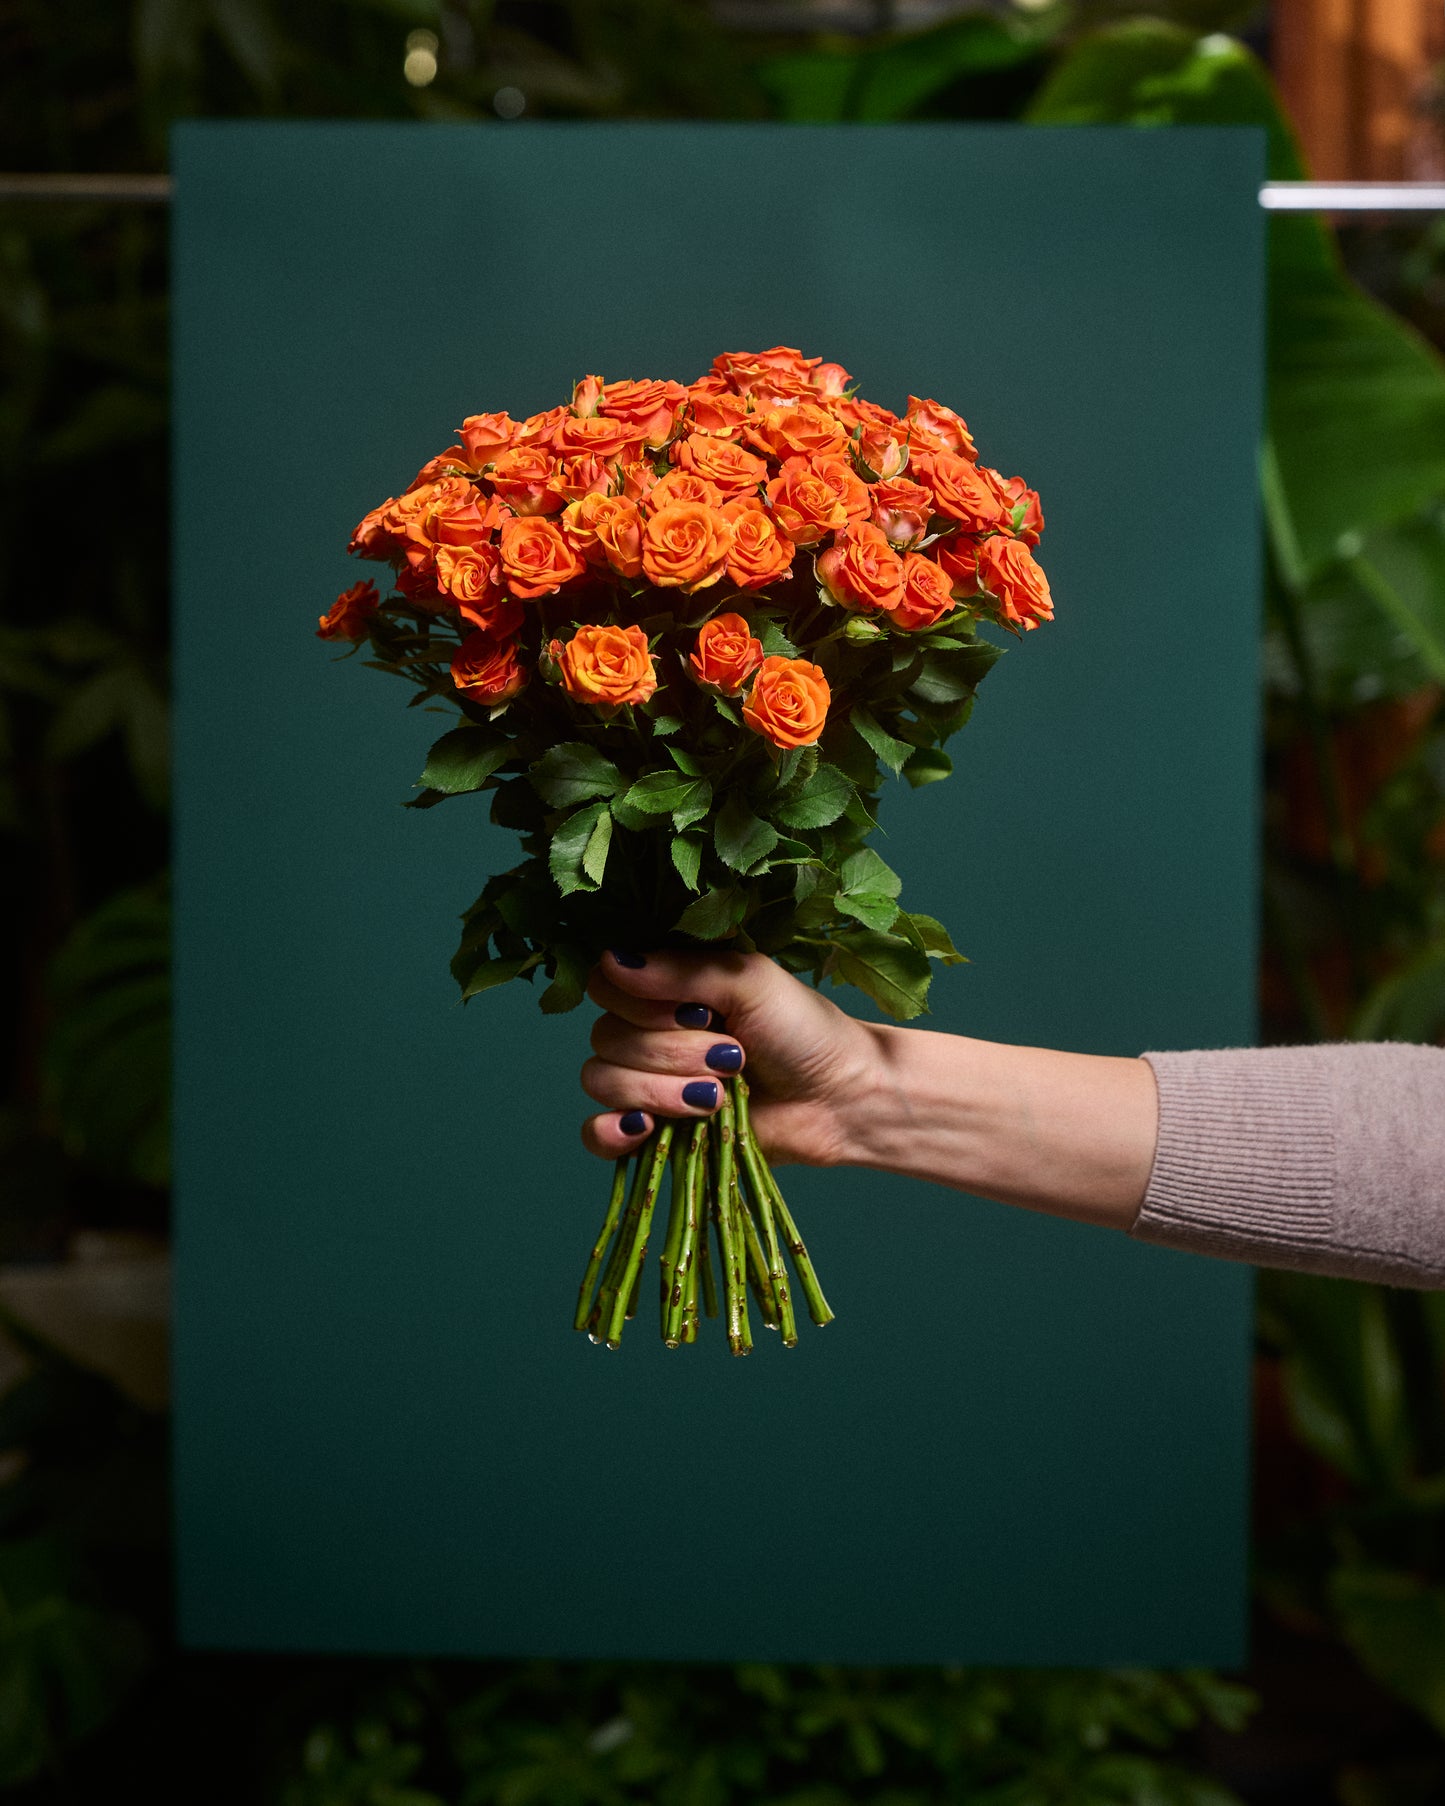
[[[589,376],[529,419],[475,414],[350,549],[452,618],[452,681],[477,704],[545,681],[611,713],[647,703],[670,654],[786,749],[818,740],[829,684],[806,657],[764,656],[750,601],[900,634],[966,609],[1022,632],[1053,616],[1042,527],[1035,491],[981,464],[950,408],[910,396],[892,414],[840,365],[775,347],[726,352],[690,385]],[[322,638],[363,639],[379,605],[352,585]],[[641,619],[663,612],[674,632],[648,639]]]

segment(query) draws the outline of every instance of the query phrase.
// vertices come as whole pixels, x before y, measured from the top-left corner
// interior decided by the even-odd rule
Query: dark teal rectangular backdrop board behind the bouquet
[[[1042,489],[1058,621],[885,802],[974,961],[932,1026],[1248,1042],[1255,135],[199,125],[175,170],[188,1642],[1237,1662],[1241,1268],[795,1170],[825,1333],[573,1335],[591,1010],[459,1008],[515,842],[399,807],[444,722],[312,628],[464,414],[773,343],[946,401]]]

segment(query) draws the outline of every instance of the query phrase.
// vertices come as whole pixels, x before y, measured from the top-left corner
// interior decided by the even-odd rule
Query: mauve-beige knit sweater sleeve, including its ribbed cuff
[[[1165,1248],[1445,1288],[1445,1047],[1145,1053],[1154,1170],[1133,1233]]]

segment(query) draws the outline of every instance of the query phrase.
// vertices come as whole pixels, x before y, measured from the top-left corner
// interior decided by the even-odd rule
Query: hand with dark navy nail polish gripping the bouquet
[[[582,1067],[582,1089],[605,1107],[582,1129],[592,1154],[629,1152],[654,1116],[712,1116],[722,1080],[746,1060],[751,1122],[769,1161],[853,1158],[847,1122],[876,1080],[878,1031],[775,961],[648,954],[632,966],[607,954],[587,995],[605,1011]]]

